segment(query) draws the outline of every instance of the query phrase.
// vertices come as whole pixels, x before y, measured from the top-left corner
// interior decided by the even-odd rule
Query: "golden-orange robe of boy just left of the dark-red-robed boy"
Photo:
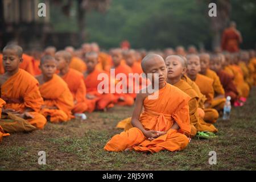
[[[221,85],[221,81],[218,75],[214,71],[207,69],[205,76],[213,79],[214,94],[215,95],[220,94],[225,97],[225,90]],[[218,98],[218,99],[213,98],[212,105],[210,105],[210,107],[217,110],[223,110],[225,102],[226,102],[226,98]]]

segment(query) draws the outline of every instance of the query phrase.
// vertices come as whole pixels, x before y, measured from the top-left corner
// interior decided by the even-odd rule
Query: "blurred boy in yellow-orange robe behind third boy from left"
[[[69,68],[75,69],[76,71],[79,71],[81,73],[86,71],[86,64],[82,59],[74,55],[75,49],[73,47],[68,46],[65,48],[65,51],[69,52],[72,56],[71,61],[69,63]]]

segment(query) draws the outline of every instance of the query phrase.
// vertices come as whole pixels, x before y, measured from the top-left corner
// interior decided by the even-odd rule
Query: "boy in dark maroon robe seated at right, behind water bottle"
[[[225,59],[225,57],[224,57]],[[220,55],[210,56],[210,69],[217,73],[220,78],[221,85],[225,90],[225,97],[230,96],[231,102],[234,104],[239,98],[236,85],[234,85],[233,77],[222,70],[222,61]]]

